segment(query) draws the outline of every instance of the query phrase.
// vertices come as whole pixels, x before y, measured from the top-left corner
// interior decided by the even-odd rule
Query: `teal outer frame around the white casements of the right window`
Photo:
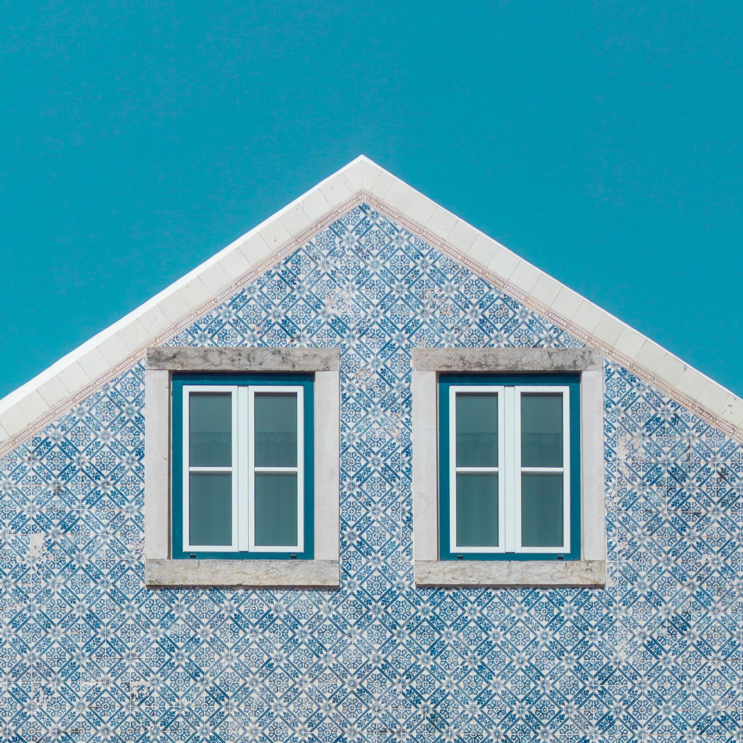
[[[536,388],[567,387],[570,421],[570,551],[569,552],[478,552],[452,551],[450,536],[450,388],[452,386],[493,386]],[[525,390],[528,393],[528,390]],[[502,401],[501,401],[502,404]],[[499,436],[504,432],[499,431]],[[439,374],[438,375],[438,463],[439,463],[439,559],[478,560],[580,560],[580,374]],[[542,548],[544,549],[544,548]]]

